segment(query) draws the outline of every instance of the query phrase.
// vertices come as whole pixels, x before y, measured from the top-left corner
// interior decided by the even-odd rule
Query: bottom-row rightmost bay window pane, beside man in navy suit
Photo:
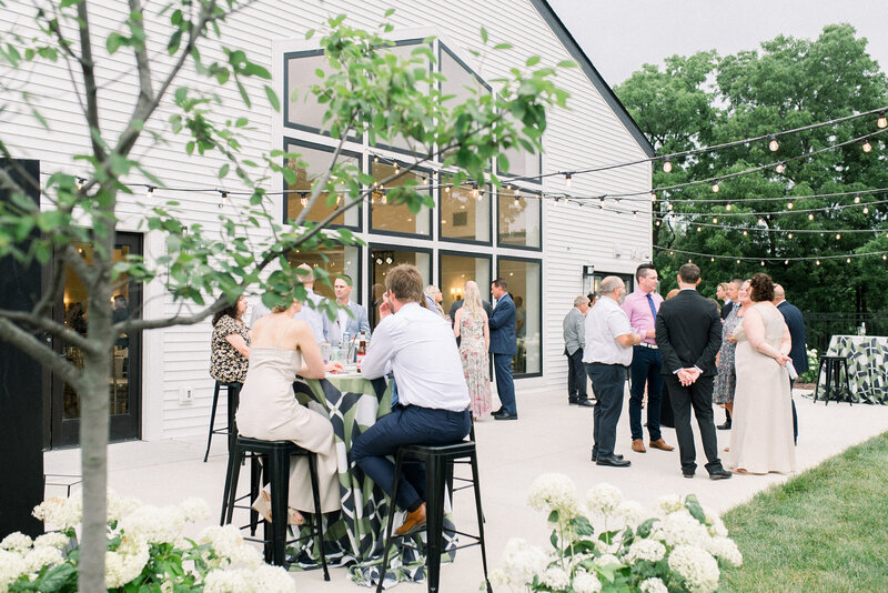
[[[515,334],[518,353],[513,359],[516,375],[543,372],[542,264],[537,260],[498,258],[497,275],[508,284],[515,301]]]

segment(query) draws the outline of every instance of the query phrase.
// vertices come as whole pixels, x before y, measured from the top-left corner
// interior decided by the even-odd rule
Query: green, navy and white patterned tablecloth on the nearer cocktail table
[[[324,380],[296,381],[299,401],[330,416],[336,439],[340,465],[342,513],[325,526],[324,551],[331,565],[350,565],[352,580],[375,586],[382,564],[389,499],[351,460],[352,441],[392,409],[392,389],[384,379],[369,380],[361,375],[327,376]],[[443,561],[455,555],[455,527],[450,515],[444,519],[445,553]],[[385,587],[397,581],[425,579],[423,542],[425,532],[395,540],[389,552]],[[316,567],[313,542],[299,554],[293,570]]]

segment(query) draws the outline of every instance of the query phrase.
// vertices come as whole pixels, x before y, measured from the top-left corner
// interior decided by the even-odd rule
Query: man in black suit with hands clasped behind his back
[[[680,292],[664,301],[657,313],[656,340],[663,353],[663,374],[675,412],[675,433],[682,458],[682,474],[694,478],[697,450],[690,429],[690,408],[700,429],[706,470],[712,480],[730,478],[718,459],[713,421],[715,355],[722,345],[718,306],[696,290],[700,269],[686,263],[678,270]]]

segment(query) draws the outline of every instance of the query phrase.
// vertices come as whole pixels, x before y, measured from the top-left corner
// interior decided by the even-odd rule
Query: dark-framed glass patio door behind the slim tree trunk
[[[77,245],[87,264],[92,264],[91,243]],[[114,260],[142,253],[142,235],[118,233],[114,242]],[[70,267],[65,273],[62,301],[53,308],[53,318],[74,331],[85,333],[90,311],[87,309],[88,290]],[[112,319],[118,322],[130,315],[141,315],[142,285],[137,282],[122,283],[108,303]],[[53,341],[56,351],[73,364],[83,364],[83,352],[70,344]],[[141,436],[141,362],[142,336],[120,334],[110,353],[111,375],[108,378],[108,396],[111,413],[110,439],[130,441]],[[80,396],[61,379],[52,376],[49,384],[49,433],[44,445],[52,449],[77,446],[80,443]],[[44,422],[44,425],[47,423]],[[48,441],[48,442],[47,442]]]

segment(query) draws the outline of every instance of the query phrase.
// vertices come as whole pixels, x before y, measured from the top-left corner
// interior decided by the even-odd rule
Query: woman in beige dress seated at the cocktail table
[[[241,389],[238,408],[238,433],[263,441],[293,441],[317,454],[321,512],[341,507],[336,445],[330,419],[302,406],[293,394],[296,374],[323,379],[326,371],[341,370],[339,363],[324,365],[307,323],[294,320],[302,304],[293,300],[289,308],[275,306],[256,321],[250,348],[250,370]],[[271,521],[268,490],[254,509]],[[314,513],[309,460],[295,458],[290,465],[289,523],[302,524],[302,512]]]

